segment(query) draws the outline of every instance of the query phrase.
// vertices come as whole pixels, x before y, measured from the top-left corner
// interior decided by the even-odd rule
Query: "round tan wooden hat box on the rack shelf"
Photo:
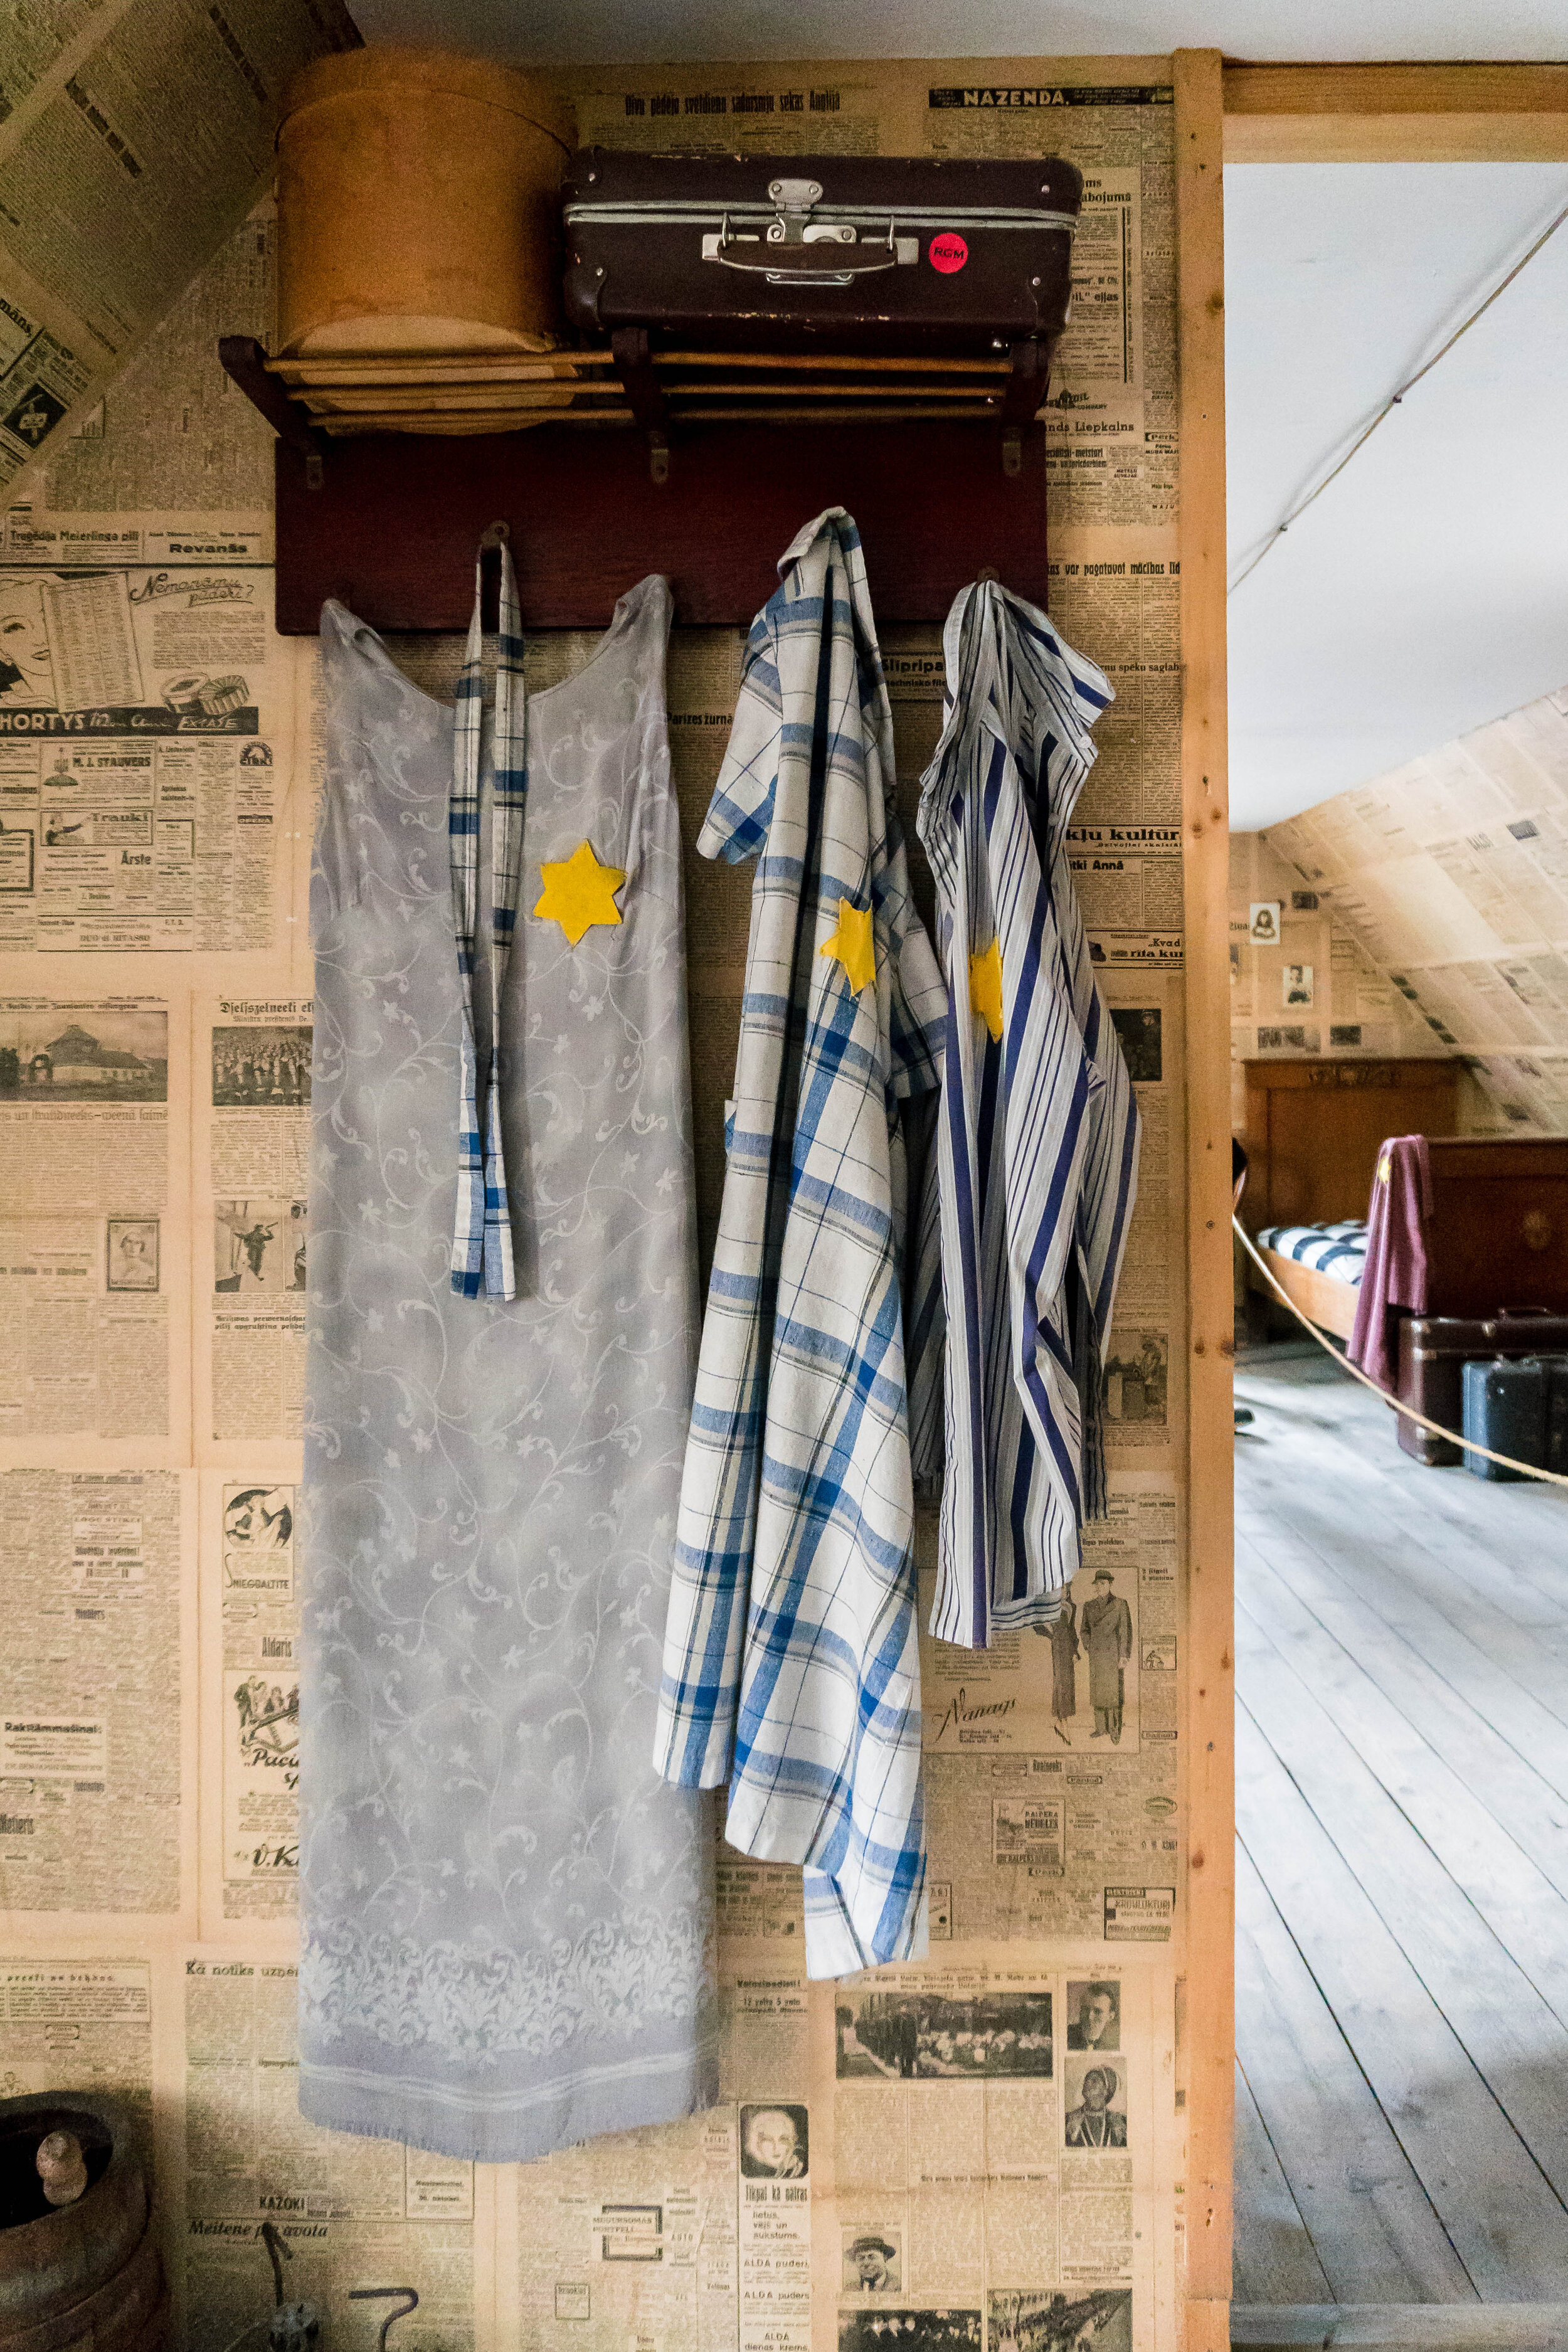
[[[442,49],[320,56],[277,134],[277,341],[348,350],[550,350],[557,188],[548,89]]]

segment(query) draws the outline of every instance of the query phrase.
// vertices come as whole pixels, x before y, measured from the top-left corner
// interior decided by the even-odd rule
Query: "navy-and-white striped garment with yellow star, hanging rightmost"
[[[940,1388],[945,1421],[931,1632],[985,1649],[994,1625],[1051,1623],[1105,1512],[1100,1364],[1138,1110],[1067,866],[1112,689],[992,581],[957,597],[943,652],[947,722],[919,802],[947,967],[924,1218],[940,1254],[926,1247],[912,1315],[940,1376],[919,1362],[912,1385],[926,1416]]]

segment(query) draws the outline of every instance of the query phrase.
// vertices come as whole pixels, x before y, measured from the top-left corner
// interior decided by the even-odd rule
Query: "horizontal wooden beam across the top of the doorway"
[[[1568,66],[1227,66],[1227,162],[1563,162]]]

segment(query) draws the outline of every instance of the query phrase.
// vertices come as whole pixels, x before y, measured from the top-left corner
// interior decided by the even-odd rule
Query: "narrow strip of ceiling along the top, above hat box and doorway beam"
[[[1566,0],[350,0],[367,40],[515,61],[705,56],[1563,56]]]

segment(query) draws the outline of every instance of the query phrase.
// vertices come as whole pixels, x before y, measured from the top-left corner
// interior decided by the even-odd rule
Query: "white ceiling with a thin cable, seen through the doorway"
[[[1232,165],[1232,569],[1568,202],[1568,165]],[[1568,680],[1568,223],[1229,602],[1232,823]]]

